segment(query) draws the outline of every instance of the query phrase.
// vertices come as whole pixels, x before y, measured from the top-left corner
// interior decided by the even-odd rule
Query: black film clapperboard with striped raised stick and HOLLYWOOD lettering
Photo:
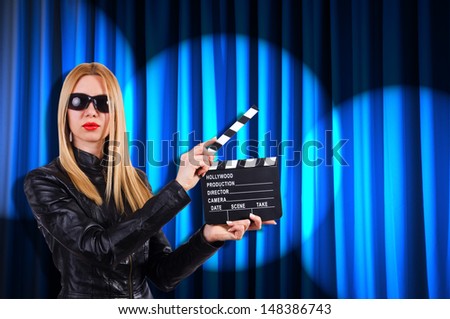
[[[252,106],[209,149],[217,152],[256,113],[258,108]],[[276,157],[213,162],[201,179],[201,185],[208,224],[246,219],[250,213],[263,221],[282,215]]]

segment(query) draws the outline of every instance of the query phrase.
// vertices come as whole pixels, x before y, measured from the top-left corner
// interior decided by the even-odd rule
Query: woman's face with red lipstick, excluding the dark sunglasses
[[[99,95],[106,95],[106,87],[100,76],[85,75],[78,80],[72,91],[73,93],[83,93],[95,98]],[[101,154],[103,143],[109,132],[109,113],[100,112],[94,106],[94,101],[92,100],[89,100],[87,108],[81,110],[71,109],[70,102],[73,105],[78,105],[80,102],[83,102],[83,96],[81,96],[81,99],[72,97],[67,110],[73,145],[95,155]],[[97,104],[99,102],[97,101]],[[102,109],[100,108],[100,110]]]

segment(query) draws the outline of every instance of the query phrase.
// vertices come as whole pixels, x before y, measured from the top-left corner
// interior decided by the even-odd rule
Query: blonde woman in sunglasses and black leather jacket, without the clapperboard
[[[59,157],[27,175],[25,193],[61,273],[60,298],[151,298],[146,278],[171,290],[223,241],[261,228],[254,215],[204,225],[172,251],[161,228],[190,202],[186,191],[212,156],[204,143],[183,154],[176,179],[153,195],[130,163],[122,94],[104,65],[85,63],[68,74],[58,134]]]

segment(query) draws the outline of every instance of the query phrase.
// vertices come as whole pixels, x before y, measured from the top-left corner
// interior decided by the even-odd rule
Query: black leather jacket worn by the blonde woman
[[[74,153],[80,168],[104,194],[105,167],[100,159],[81,150]],[[145,174],[138,172],[148,185]],[[125,214],[114,204],[98,206],[80,193],[59,159],[31,171],[24,187],[61,273],[60,298],[151,298],[146,278],[169,291],[222,244],[207,243],[199,230],[172,251],[161,228],[190,202],[176,181],[141,209],[131,213],[128,208]]]

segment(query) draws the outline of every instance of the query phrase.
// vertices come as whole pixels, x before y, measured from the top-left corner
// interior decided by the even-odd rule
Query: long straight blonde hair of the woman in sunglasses
[[[58,135],[59,158],[61,165],[67,171],[75,187],[97,205],[103,203],[94,184],[78,166],[72,144],[69,141],[70,129],[67,122],[67,108],[69,95],[72,93],[78,80],[85,75],[100,76],[106,86],[109,101],[109,146],[107,155],[113,159],[108,162],[106,178],[106,201],[114,197],[114,202],[120,212],[125,211],[125,199],[132,211],[141,208],[151,197],[146,184],[139,177],[136,169],[131,165],[128,153],[128,141],[125,136],[125,115],[122,92],[114,74],[103,64],[82,63],[75,67],[64,80],[58,106]],[[120,158],[116,158],[117,153]],[[123,198],[125,197],[125,199]]]

